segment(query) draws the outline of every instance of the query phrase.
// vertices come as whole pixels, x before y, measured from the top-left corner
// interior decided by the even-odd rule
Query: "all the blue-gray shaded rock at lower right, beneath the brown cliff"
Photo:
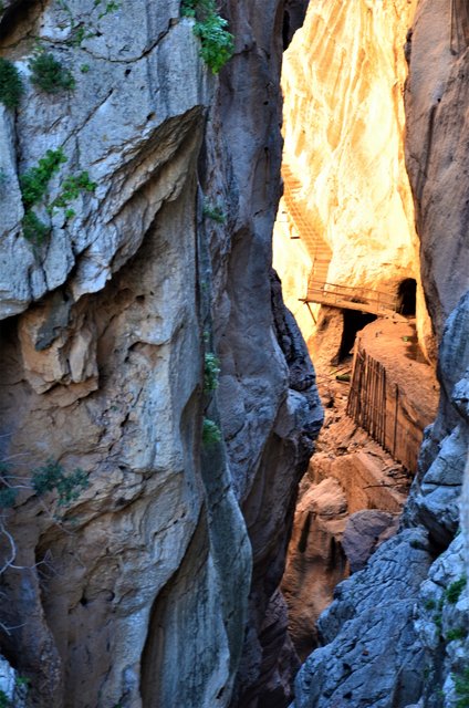
[[[319,621],[324,646],[296,678],[294,708],[454,708],[460,698],[457,677],[467,666],[469,616],[466,516],[462,534],[449,542],[468,459],[468,304],[466,295],[440,345],[440,410],[404,514],[404,525],[415,528],[403,529],[337,586]],[[427,534],[429,543],[423,540]]]

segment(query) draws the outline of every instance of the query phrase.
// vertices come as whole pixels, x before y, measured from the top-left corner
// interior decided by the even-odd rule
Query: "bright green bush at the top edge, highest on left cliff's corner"
[[[215,0],[184,0],[181,14],[195,18],[194,34],[200,40],[200,56],[213,74],[218,74],[234,53],[228,20],[218,14]]]

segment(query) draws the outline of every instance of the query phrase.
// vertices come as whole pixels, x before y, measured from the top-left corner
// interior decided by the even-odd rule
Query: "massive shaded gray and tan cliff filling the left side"
[[[105,9],[2,3],[25,93],[0,108],[0,440],[29,489],[6,512],[21,569],[0,577],[1,648],[44,708],[228,706],[241,655],[233,700],[254,706],[283,690],[283,534],[321,420],[270,273],[283,2],[227,3],[219,81],[178,1]],[[73,91],[28,82],[34,37]],[[59,149],[49,204],[70,175],[96,187],[74,215],[40,200],[32,243],[19,177]],[[204,417],[221,442],[201,445]],[[87,475],[65,511],[30,489],[48,459]]]

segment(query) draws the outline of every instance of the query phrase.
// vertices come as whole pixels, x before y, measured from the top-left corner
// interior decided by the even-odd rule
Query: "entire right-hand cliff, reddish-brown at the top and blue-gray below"
[[[407,165],[440,340],[439,413],[402,531],[337,586],[319,623],[323,646],[298,676],[295,708],[452,708],[468,698],[468,28],[466,3],[420,0],[407,44]]]

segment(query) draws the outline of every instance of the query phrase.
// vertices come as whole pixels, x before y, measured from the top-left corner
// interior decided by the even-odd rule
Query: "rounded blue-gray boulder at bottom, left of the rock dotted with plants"
[[[388,708],[418,699],[424,652],[411,617],[431,562],[419,530],[390,539],[336,587],[319,631],[324,646],[295,680],[294,708]]]

